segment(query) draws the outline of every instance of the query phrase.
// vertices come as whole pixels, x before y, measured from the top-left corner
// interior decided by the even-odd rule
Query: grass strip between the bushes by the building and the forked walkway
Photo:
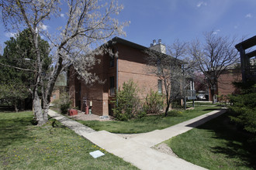
[[[212,110],[220,107],[195,107],[195,110],[185,110],[180,115],[168,115],[163,117],[161,115],[152,115],[140,119],[133,119],[130,121],[78,121],[81,124],[94,129],[95,131],[109,131],[112,133],[122,134],[136,134],[156,129],[168,128],[174,124],[187,121],[202,114],[206,114]]]

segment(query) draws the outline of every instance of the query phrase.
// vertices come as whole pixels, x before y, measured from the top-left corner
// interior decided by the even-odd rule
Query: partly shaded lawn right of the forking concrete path
[[[205,168],[255,169],[256,147],[249,139],[223,114],[165,143],[180,158]]]

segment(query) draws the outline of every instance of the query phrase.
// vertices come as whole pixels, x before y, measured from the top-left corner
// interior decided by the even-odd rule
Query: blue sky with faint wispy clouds
[[[166,45],[175,39],[203,41],[203,33],[210,31],[239,39],[256,34],[256,0],[119,0],[119,4],[124,8],[117,19],[130,21],[126,36],[120,37],[142,46],[150,46],[153,39]],[[56,23],[48,22],[44,29],[53,32]],[[0,26],[0,46],[14,33]]]

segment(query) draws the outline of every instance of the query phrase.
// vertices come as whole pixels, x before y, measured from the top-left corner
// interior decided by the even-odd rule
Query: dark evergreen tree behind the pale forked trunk
[[[12,104],[18,111],[24,107],[24,100],[31,98],[36,78],[36,55],[29,39],[29,29],[20,32],[16,38],[11,37],[5,42],[5,49],[0,56],[0,100]],[[38,37],[40,51],[43,54],[43,70],[50,66],[49,44]],[[23,104],[21,104],[23,103]]]

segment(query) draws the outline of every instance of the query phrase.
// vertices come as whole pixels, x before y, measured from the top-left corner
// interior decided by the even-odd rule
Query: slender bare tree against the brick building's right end
[[[186,46],[186,42],[175,40],[171,46],[167,46],[168,55],[157,52],[154,49],[145,50],[149,72],[157,76],[164,85],[165,116],[168,115],[171,103],[185,95],[183,91],[187,86],[185,79],[188,77],[187,70],[191,68],[190,66],[185,66],[188,63],[183,61],[185,59]]]

